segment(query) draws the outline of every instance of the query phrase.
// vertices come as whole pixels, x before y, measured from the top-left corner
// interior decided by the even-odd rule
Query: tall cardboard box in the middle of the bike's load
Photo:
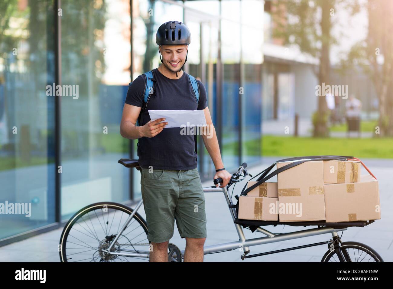
[[[279,162],[277,169],[290,163]],[[325,220],[323,162],[307,161],[279,173],[278,201],[280,222]]]

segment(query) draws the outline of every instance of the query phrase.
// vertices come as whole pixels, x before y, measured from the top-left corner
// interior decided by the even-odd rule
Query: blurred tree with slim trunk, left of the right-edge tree
[[[282,38],[284,44],[296,44],[299,49],[320,60],[314,70],[319,85],[329,84],[330,48],[337,44],[337,36],[332,35],[332,16],[342,0],[286,0],[274,1],[274,37]],[[358,11],[356,2],[349,2],[351,13]],[[313,115],[314,136],[329,135],[327,127],[328,110],[324,95],[318,96],[318,110]]]

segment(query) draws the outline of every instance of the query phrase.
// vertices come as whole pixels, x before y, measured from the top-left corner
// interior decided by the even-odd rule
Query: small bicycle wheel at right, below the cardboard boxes
[[[383,262],[381,256],[371,247],[358,242],[343,242],[340,246],[347,262]],[[328,250],[321,262],[340,262],[335,251]]]

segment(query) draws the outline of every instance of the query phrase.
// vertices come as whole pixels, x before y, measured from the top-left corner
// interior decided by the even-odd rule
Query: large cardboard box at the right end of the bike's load
[[[378,181],[371,175],[360,182],[325,184],[326,222],[368,221],[381,218]]]

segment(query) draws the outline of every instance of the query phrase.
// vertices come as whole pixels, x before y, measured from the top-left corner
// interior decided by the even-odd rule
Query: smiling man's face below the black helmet
[[[162,63],[172,72],[177,72],[185,62],[188,45],[161,45]]]

